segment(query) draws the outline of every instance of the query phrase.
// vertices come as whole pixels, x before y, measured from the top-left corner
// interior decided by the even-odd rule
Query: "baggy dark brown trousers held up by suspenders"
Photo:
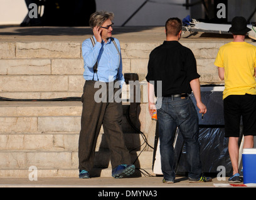
[[[119,164],[131,164],[131,157],[124,143],[122,133],[122,103],[109,101],[109,83],[106,83],[107,102],[95,101],[99,88],[94,88],[95,81],[85,81],[83,87],[83,111],[81,131],[78,141],[79,169],[90,171],[93,168],[95,147],[100,128],[103,125],[105,138],[110,150],[112,168]],[[119,88],[114,88],[114,93]],[[95,93],[97,95],[95,95]],[[113,93],[113,91],[112,91]]]

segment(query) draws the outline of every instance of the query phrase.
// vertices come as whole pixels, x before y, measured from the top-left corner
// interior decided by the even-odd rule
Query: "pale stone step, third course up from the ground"
[[[0,134],[0,151],[78,151],[79,133],[9,133]],[[144,148],[144,139],[139,133],[124,134],[128,149]],[[103,130],[99,134],[96,151],[107,151],[108,145]]]

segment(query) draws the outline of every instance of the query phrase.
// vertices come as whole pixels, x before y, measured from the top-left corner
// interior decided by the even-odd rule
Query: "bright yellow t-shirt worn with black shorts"
[[[220,47],[214,64],[225,71],[223,99],[231,94],[256,94],[255,46],[247,42],[229,42]]]

